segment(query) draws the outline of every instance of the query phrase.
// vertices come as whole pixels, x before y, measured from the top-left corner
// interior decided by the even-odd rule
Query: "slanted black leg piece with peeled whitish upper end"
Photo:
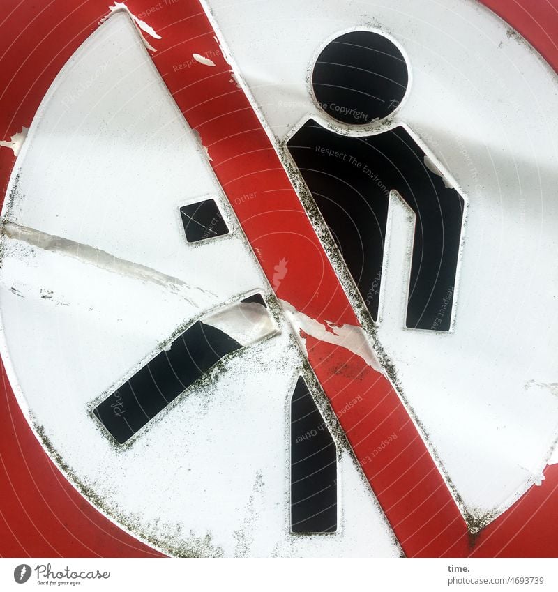
[[[227,354],[273,333],[276,326],[263,298],[250,296],[188,327],[93,414],[118,443],[125,443]]]

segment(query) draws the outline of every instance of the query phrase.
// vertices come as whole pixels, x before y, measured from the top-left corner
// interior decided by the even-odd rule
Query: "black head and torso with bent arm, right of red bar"
[[[319,107],[352,128],[393,114],[408,82],[397,45],[371,31],[333,40],[312,75]],[[402,197],[416,215],[406,325],[449,331],[465,201],[414,137],[404,126],[353,137],[309,119],[287,145],[374,321],[389,195],[395,191]]]

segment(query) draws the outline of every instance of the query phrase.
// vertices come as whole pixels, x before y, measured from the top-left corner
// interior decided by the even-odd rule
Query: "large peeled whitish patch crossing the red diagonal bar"
[[[300,335],[301,331],[332,345],[338,345],[351,351],[355,356],[362,358],[365,363],[374,368],[377,372],[383,374],[382,366],[378,358],[370,346],[368,337],[361,327],[355,325],[335,326],[332,323],[327,323],[327,326],[308,317],[303,312],[299,312],[294,306],[287,301],[280,301],[285,316],[292,324],[294,331]],[[327,321],[326,321],[327,322]],[[306,342],[301,339],[306,351]],[[307,352],[308,353],[308,352]]]

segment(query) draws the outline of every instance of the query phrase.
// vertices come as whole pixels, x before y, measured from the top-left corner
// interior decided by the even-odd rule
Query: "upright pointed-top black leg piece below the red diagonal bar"
[[[335,442],[302,377],[291,400],[291,531],[337,531]]]

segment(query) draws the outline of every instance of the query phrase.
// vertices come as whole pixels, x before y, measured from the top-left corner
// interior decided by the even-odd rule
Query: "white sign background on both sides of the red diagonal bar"
[[[407,327],[415,218],[405,195],[389,193],[376,337],[462,510],[490,521],[540,482],[558,437],[555,73],[469,0],[207,4],[285,166],[287,142],[309,119],[345,139],[400,127],[462,196],[455,282],[438,309],[449,330],[438,331]],[[338,121],[335,109],[334,121],[311,83],[319,53],[352,31],[393,40],[409,71],[393,116],[362,126]],[[47,92],[3,220],[10,383],[45,447],[105,515],[176,555],[401,554],[293,319],[317,328],[273,297],[126,13],[101,24]],[[335,245],[324,246],[354,294]],[[278,261],[276,281],[287,273]],[[195,360],[199,374],[176,377],[186,393],[163,389],[164,404],[146,409],[134,381],[199,323],[229,349],[213,351],[214,363]],[[367,347],[352,351],[374,365]],[[336,469],[335,524],[303,536],[291,514],[301,376],[310,395],[296,401],[315,403],[319,420],[304,440],[330,434]],[[126,400],[145,417],[130,419]]]

